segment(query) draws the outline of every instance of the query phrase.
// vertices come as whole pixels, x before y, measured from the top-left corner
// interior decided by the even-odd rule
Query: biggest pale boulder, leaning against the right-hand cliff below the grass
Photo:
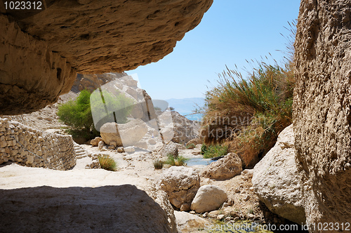
[[[301,174],[296,166],[293,125],[279,134],[274,147],[253,168],[253,190],[272,211],[305,224]]]

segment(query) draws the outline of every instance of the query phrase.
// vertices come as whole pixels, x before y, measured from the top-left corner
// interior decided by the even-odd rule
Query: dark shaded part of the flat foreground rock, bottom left
[[[176,232],[159,204],[133,185],[43,186],[0,194],[1,232]]]

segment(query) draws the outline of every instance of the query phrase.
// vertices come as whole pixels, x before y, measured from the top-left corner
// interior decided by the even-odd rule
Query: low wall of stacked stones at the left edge
[[[76,165],[72,136],[38,131],[0,118],[0,164],[68,170]]]

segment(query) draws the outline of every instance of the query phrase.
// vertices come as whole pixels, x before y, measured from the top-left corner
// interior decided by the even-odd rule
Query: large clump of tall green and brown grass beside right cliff
[[[206,93],[205,143],[225,143],[244,167],[252,168],[292,123],[293,62],[284,66],[259,62],[246,79],[227,68],[218,83]]]

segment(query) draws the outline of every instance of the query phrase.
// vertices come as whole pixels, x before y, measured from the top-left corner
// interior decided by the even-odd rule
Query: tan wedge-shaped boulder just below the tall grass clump
[[[201,172],[201,176],[215,180],[227,180],[242,171],[241,159],[235,153],[228,153],[222,159],[212,162]]]

